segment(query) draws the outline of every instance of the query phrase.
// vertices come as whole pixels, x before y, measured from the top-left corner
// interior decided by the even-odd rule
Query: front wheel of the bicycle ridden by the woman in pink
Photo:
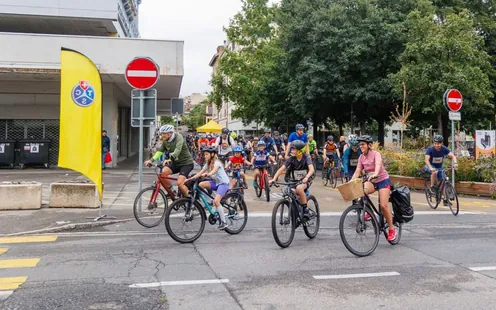
[[[369,221],[364,220],[366,213],[370,215]],[[346,236],[348,230],[350,234],[349,237]],[[365,234],[370,231],[372,231],[375,236],[369,239]],[[372,254],[379,244],[379,224],[377,223],[374,212],[368,207],[363,207],[361,205],[349,206],[343,212],[341,219],[339,220],[339,235],[341,236],[341,241],[343,241],[344,246],[352,254],[360,257]],[[351,244],[352,241],[357,239],[362,239],[363,241],[364,237],[372,242],[361,248]]]

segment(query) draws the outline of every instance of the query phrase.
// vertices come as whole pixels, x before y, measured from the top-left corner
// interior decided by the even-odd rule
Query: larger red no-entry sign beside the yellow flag
[[[157,83],[158,65],[148,57],[137,57],[126,68],[126,80],[135,89],[148,89]]]

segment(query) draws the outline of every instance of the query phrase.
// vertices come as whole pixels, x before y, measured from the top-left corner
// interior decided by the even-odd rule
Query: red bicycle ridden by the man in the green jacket
[[[148,167],[152,167],[152,165],[148,165]],[[162,222],[165,217],[165,210],[169,206],[168,198],[174,201],[183,196],[180,190],[175,192],[165,184],[165,180],[177,181],[177,178],[163,177],[161,174],[164,166],[159,164],[155,167],[157,181],[152,186],[142,189],[136,196],[133,205],[136,221],[146,228],[155,227]],[[143,215],[141,215],[142,213]]]

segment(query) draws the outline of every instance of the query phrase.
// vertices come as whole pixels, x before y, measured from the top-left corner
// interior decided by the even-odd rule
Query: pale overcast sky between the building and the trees
[[[241,10],[241,0],[143,0],[139,10],[142,38],[184,41],[180,95],[209,92],[208,64],[227,39],[222,27]]]

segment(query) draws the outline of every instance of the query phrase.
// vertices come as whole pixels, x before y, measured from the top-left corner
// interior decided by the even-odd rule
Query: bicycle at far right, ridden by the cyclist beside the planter
[[[447,169],[451,169],[451,167]],[[437,169],[437,171],[441,171],[442,178],[441,181],[436,180],[434,183],[434,194],[430,191],[431,174],[428,174],[427,171],[424,172],[424,192],[427,203],[432,209],[436,209],[444,196],[443,200],[448,204],[451,213],[454,216],[457,216],[460,211],[460,204],[458,203],[458,194],[456,193],[456,189],[453,187],[453,184],[451,184],[448,175],[446,175],[446,169],[440,168]],[[435,198],[435,201],[432,201],[433,198]],[[456,206],[453,205],[452,201],[456,203]]]

